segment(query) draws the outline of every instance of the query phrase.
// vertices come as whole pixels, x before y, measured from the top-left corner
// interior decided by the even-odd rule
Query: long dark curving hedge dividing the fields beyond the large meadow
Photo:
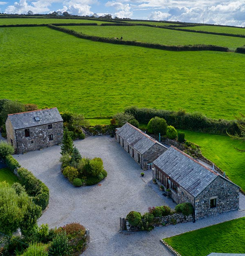
[[[67,34],[76,36],[78,38],[82,39],[88,39],[91,41],[96,42],[103,42],[103,43],[113,43],[113,44],[120,44],[120,45],[132,45],[132,46],[140,46],[145,48],[154,48],[154,49],[160,49],[160,50],[169,50],[169,51],[220,51],[220,52],[228,52],[229,49],[227,47],[222,46],[216,46],[216,45],[160,45],[160,44],[154,44],[154,43],[142,43],[142,42],[136,42],[136,41],[124,41],[120,39],[112,39],[112,38],[106,38],[106,37],[100,37],[100,36],[89,36],[86,34],[82,34],[79,32],[76,32],[71,29],[67,29],[64,27],[57,27],[51,24],[48,24],[48,27],[51,29],[55,29],[61,32],[65,32]]]

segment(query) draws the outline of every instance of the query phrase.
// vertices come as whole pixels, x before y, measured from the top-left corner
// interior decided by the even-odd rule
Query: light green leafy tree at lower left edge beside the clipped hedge
[[[20,227],[30,204],[24,190],[18,193],[5,181],[0,182],[0,232],[10,236]]]

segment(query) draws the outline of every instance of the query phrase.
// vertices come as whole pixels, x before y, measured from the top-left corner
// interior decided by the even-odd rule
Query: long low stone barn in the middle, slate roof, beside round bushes
[[[153,161],[167,150],[167,147],[128,122],[117,129],[116,140],[143,170],[152,168]]]

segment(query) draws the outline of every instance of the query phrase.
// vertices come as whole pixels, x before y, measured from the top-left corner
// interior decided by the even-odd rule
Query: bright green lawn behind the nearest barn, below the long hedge
[[[203,156],[214,162],[235,184],[245,191],[245,143],[228,136],[184,131],[185,138],[200,146]]]

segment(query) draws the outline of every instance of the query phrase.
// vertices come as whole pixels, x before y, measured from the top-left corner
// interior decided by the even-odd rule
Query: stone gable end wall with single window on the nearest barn
[[[210,200],[216,199],[216,207],[210,208]],[[220,176],[205,188],[195,199],[196,220],[238,210],[239,188],[235,184],[223,179]]]

